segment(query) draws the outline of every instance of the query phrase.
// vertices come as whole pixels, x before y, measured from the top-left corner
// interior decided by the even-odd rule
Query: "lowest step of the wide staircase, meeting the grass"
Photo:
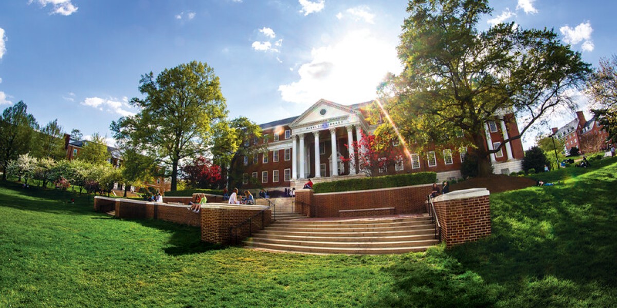
[[[425,246],[400,246],[400,247],[377,247],[377,248],[342,248],[342,247],[320,247],[320,246],[302,246],[302,245],[281,245],[275,243],[259,243],[252,242],[246,244],[251,248],[262,248],[270,251],[294,252],[294,253],[311,253],[311,254],[401,254],[417,251],[425,251],[434,243]]]

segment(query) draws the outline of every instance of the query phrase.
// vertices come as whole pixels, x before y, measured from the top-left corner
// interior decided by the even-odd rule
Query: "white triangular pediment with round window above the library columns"
[[[348,120],[350,118],[362,118],[362,114],[349,106],[320,99],[289,124],[289,128],[294,129],[329,120]]]

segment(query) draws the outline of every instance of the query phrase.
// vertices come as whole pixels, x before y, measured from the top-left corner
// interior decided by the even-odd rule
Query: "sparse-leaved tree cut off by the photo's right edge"
[[[608,132],[608,140],[617,140],[617,55],[600,60],[587,82],[587,94],[594,100],[592,113]]]

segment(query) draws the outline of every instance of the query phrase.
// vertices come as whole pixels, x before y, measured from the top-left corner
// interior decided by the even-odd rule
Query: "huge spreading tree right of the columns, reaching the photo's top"
[[[574,108],[568,90],[590,73],[552,30],[500,23],[479,31],[480,18],[492,12],[488,0],[412,0],[407,11],[398,46],[405,68],[379,87],[384,110],[404,139],[420,147],[470,146],[479,176],[491,174],[491,153],[557,107]],[[513,124],[512,116],[500,116],[508,113],[516,115],[520,134],[489,150],[486,124]]]

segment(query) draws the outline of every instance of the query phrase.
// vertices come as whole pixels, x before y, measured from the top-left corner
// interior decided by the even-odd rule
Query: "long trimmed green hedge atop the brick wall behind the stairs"
[[[361,179],[315,183],[315,185],[313,185],[313,191],[315,193],[350,192],[353,190],[429,184],[436,182],[436,180],[436,172],[417,172],[411,174],[396,174],[394,176],[363,177]]]

